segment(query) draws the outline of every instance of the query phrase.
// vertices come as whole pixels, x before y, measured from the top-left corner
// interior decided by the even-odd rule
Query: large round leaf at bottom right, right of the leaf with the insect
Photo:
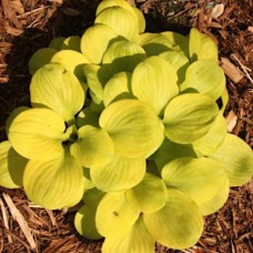
[[[196,203],[185,193],[168,190],[166,205],[143,215],[144,225],[159,243],[171,249],[193,246],[203,231],[203,217]]]

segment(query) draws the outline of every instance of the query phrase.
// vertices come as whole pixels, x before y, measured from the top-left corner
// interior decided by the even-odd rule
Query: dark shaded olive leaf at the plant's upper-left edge
[[[58,50],[52,48],[42,48],[37,50],[32,54],[28,63],[30,74],[34,74],[37,70],[49,63],[53,54],[55,54],[57,52]]]

